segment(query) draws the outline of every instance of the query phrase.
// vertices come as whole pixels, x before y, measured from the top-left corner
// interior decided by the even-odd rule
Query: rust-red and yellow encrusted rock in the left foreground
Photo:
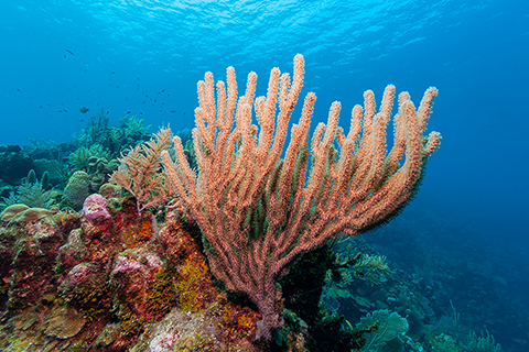
[[[101,221],[4,213],[0,351],[261,351],[251,342],[258,314],[217,290],[179,216],[156,223],[133,199],[119,205]]]

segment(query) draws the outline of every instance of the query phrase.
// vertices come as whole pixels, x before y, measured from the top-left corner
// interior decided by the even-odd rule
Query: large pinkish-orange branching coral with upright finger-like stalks
[[[267,96],[255,98],[257,75],[250,73],[245,96],[237,98],[235,69],[228,67],[227,85],[217,81],[215,101],[213,74],[206,73],[198,82],[193,131],[197,169],[190,167],[179,136],[174,161],[162,152],[180,207],[203,232],[213,274],[258,307],[256,339],[270,340],[283,323],[277,280],[289,263],[339,232],[357,235],[398,215],[441,142],[438,132],[424,135],[435,88],[425,91],[419,109],[408,92],[399,95],[389,153],[393,86],[386,88],[378,113],[374,92],[365,92],[364,108],[353,109],[347,135],[338,128],[341,105],[333,102],[327,123],[315,128],[311,143],[316,97],[309,92],[281,157],[303,75],[304,59],[298,54],[292,82],[289,74],[273,68]],[[252,110],[259,127],[251,123]]]

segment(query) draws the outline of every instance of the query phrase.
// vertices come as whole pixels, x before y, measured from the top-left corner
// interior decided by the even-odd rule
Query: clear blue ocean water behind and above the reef
[[[152,132],[193,128],[206,70],[224,79],[233,65],[239,87],[255,70],[263,94],[270,68],[292,72],[296,53],[303,91],[317,95],[314,122],[339,100],[346,127],[366,89],[380,98],[395,84],[419,103],[438,87],[441,150],[401,219],[374,239],[400,243],[391,227],[409,227],[422,246],[402,251],[483,275],[496,294],[478,304],[498,315],[475,329],[529,349],[501,316],[529,311],[529,2],[4,0],[0,47],[0,144],[71,141],[87,123],[80,107],[104,107],[115,123],[130,111]],[[471,292],[464,305],[472,288],[446,289]],[[521,323],[529,331],[527,315]]]

